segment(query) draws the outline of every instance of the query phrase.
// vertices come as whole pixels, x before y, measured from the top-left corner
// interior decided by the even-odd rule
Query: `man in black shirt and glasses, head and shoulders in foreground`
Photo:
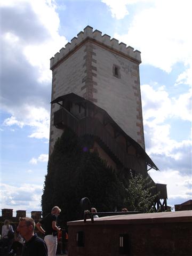
[[[35,221],[32,218],[19,218],[17,230],[25,239],[22,256],[47,256],[45,241],[34,234]]]

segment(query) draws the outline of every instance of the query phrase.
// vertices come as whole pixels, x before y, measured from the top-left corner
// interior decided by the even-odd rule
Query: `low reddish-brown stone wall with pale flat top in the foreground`
[[[192,255],[192,211],[68,222],[68,256]]]

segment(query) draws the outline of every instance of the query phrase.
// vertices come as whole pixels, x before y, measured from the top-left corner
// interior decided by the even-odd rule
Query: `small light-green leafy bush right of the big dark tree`
[[[126,205],[129,210],[139,211],[141,213],[153,212],[154,202],[156,195],[151,194],[151,180],[149,177],[143,178],[141,174],[133,176],[129,179],[128,186],[126,188]]]

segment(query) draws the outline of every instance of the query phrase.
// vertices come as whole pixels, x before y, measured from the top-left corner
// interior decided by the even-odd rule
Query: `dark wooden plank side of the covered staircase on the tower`
[[[144,170],[145,159],[138,159],[134,155],[127,154],[99,120],[89,116],[78,119],[69,111],[62,108],[54,113],[54,125],[58,129],[63,129],[65,126],[70,127],[79,137],[93,135],[98,142],[102,141],[109,154],[113,155],[127,169],[132,169],[138,173],[146,172]],[[160,192],[159,198],[167,198],[166,185],[154,183],[154,186],[153,194]]]

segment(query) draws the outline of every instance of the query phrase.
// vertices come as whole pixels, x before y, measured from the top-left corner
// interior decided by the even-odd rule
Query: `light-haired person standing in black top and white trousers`
[[[37,229],[45,235],[44,240],[47,245],[48,256],[55,256],[57,251],[57,233],[60,231],[57,226],[57,217],[60,212],[61,209],[58,206],[54,206],[51,213],[36,224]]]

